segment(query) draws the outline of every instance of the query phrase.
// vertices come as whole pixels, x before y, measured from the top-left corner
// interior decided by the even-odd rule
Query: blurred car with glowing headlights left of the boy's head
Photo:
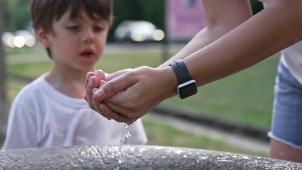
[[[3,44],[10,48],[33,47],[36,44],[35,36],[27,30],[18,30],[15,34],[4,32],[1,36]]]

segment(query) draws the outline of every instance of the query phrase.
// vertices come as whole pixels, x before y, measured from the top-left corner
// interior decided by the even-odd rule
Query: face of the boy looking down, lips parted
[[[103,53],[109,30],[109,22],[93,20],[82,10],[80,17],[70,18],[70,10],[53,21],[53,32],[37,30],[44,47],[49,47],[56,67],[78,71],[93,71]]]

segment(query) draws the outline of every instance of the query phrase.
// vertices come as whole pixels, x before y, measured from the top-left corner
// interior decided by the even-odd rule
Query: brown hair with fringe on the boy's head
[[[83,9],[92,19],[106,19],[111,25],[114,0],[30,0],[30,12],[34,29],[53,31],[53,21],[59,20],[71,8],[70,17],[76,18]],[[49,48],[46,49],[51,58]]]

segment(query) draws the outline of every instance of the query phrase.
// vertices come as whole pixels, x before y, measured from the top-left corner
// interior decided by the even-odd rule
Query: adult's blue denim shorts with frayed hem
[[[302,85],[280,61],[275,85],[272,139],[302,150]]]

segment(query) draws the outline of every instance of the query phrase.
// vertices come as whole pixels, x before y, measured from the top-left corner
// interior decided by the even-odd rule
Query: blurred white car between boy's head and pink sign
[[[114,32],[117,41],[156,42],[164,39],[164,36],[164,32],[149,21],[125,20]]]

